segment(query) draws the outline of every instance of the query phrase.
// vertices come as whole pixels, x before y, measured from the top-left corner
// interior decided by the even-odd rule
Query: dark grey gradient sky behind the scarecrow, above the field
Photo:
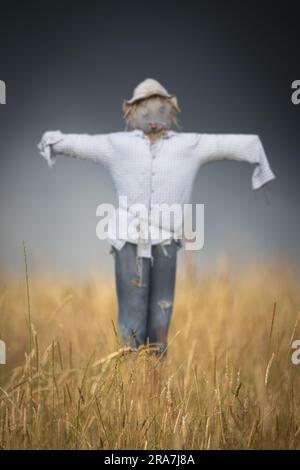
[[[299,265],[300,79],[296,2],[126,3],[1,1],[0,268],[88,276],[112,273],[96,238],[96,207],[116,203],[106,171],[60,158],[49,169],[37,144],[46,130],[124,130],[121,105],[147,77],[176,94],[184,132],[255,133],[277,179],[269,203],[251,189],[253,167],[217,162],[196,179],[205,204],[209,269],[274,259]],[[180,252],[181,261],[185,258]]]

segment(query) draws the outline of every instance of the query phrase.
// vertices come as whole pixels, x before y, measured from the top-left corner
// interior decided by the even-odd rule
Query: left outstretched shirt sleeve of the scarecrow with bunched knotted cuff
[[[82,160],[106,164],[111,154],[109,134],[63,134],[60,131],[45,132],[38,148],[42,157],[52,167],[58,154]]]

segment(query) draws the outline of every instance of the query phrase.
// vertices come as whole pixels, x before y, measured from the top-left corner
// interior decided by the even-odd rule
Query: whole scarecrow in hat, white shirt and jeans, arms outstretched
[[[275,178],[258,135],[180,132],[179,112],[176,96],[148,78],[123,102],[124,131],[97,135],[50,131],[38,146],[49,166],[63,154],[108,169],[119,196],[109,241],[120,339],[134,349],[148,345],[161,356],[167,353],[183,221],[175,216],[158,223],[153,208],[174,204],[182,208],[189,203],[199,168],[216,160],[252,164],[254,190]]]

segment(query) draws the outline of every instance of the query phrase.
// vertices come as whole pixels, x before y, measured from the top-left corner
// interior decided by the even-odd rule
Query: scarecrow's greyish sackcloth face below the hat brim
[[[172,104],[161,96],[151,96],[136,103],[132,110],[132,124],[146,134],[170,129],[172,126]]]

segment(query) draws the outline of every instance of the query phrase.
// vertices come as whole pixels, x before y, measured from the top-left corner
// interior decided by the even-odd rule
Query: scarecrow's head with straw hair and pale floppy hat
[[[177,98],[156,80],[147,78],[133,92],[130,100],[123,103],[123,113],[129,128],[140,129],[146,134],[157,134],[178,126],[180,112]]]

